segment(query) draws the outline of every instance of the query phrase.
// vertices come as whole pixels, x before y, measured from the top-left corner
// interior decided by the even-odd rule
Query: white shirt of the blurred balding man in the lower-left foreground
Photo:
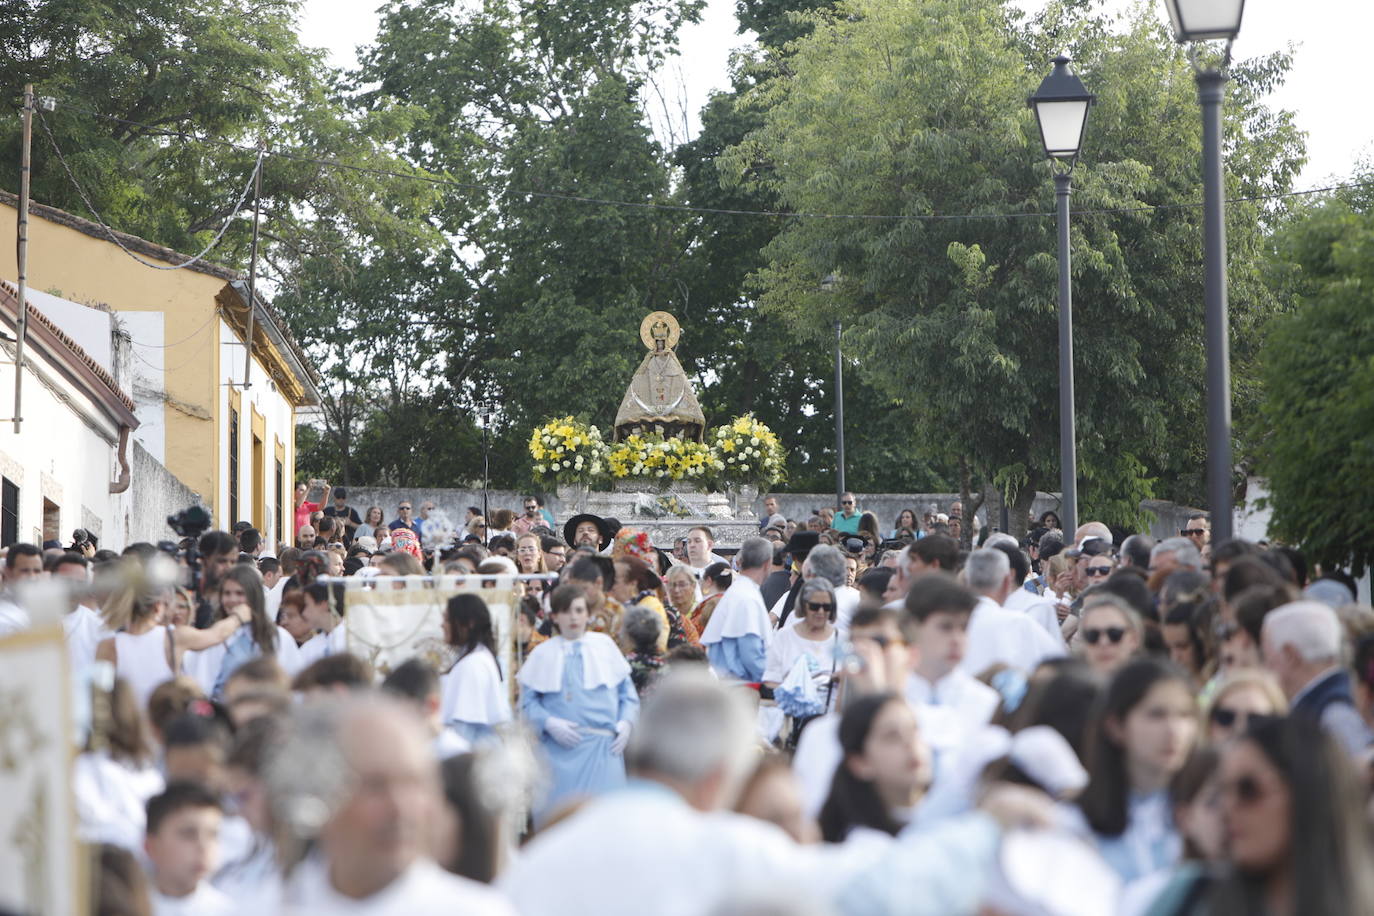
[[[504,894],[419,860],[365,900],[334,890],[328,865],[312,858],[287,880],[280,916],[515,916]]]

